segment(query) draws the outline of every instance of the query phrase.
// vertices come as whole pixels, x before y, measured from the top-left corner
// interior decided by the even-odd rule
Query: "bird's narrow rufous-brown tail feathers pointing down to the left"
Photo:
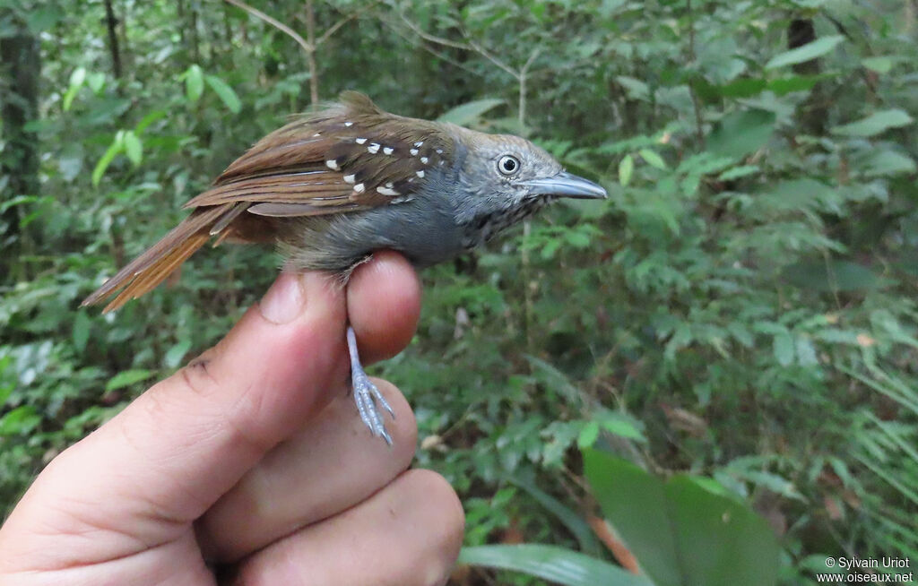
[[[224,216],[232,215],[229,218],[230,221],[238,216],[239,211],[235,209],[237,206],[247,207],[244,204],[226,204],[196,209],[191,216],[186,217],[159,242],[136,259],[131,260],[95,293],[86,297],[80,305],[100,303],[124,287],[124,290],[118,293],[118,296],[103,310],[103,312],[109,312],[118,309],[131,299],[137,299],[140,295],[148,293],[163,282],[197,249],[204,246],[212,233],[219,231],[212,230],[212,227],[219,224],[223,229],[229,224],[229,222],[221,221]]]

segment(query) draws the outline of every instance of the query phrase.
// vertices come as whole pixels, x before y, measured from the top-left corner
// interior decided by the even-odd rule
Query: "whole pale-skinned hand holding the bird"
[[[444,584],[455,492],[407,470],[417,427],[392,384],[375,380],[392,448],[345,391],[346,320],[367,363],[404,348],[419,312],[394,253],[346,289],[284,273],[217,346],[50,462],[0,528],[0,584]]]

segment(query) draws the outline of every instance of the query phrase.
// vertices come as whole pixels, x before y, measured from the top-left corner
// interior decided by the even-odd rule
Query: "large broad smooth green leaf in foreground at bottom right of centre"
[[[710,481],[684,474],[663,481],[595,449],[584,460],[606,519],[656,586],[777,582],[770,527]]]

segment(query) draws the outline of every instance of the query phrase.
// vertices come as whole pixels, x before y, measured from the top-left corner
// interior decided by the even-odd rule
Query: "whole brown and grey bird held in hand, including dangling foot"
[[[268,134],[229,164],[191,213],[86,297],[116,310],[150,292],[208,241],[274,243],[285,266],[346,282],[375,250],[423,268],[475,249],[562,197],[605,198],[529,140],[390,114],[366,95],[337,101]],[[380,408],[346,330],[357,410],[387,444]]]

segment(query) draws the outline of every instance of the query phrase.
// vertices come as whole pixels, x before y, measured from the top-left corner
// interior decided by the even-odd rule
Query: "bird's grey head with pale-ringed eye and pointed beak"
[[[533,200],[608,196],[602,186],[565,171],[525,138],[463,130],[465,160],[459,180],[469,203],[479,209],[512,210]]]

